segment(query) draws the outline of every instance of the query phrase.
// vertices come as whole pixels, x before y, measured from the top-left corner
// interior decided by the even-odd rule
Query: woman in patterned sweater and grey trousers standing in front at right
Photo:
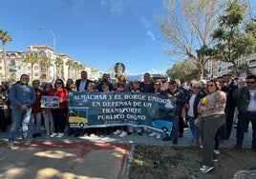
[[[214,169],[214,147],[217,130],[224,125],[226,94],[221,90],[219,82],[210,80],[207,83],[207,95],[199,103],[198,113],[201,114],[200,134],[203,144],[202,172]]]

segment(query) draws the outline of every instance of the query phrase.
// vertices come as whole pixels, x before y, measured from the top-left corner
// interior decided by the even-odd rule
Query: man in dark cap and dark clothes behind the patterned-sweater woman
[[[234,113],[236,108],[236,99],[232,96],[235,89],[238,89],[238,86],[235,84],[235,82],[232,80],[232,74],[226,73],[223,75],[224,83],[226,84],[226,87],[229,89],[227,98],[226,98],[226,105],[225,105],[225,136],[224,139],[228,139],[232,126],[234,121]]]

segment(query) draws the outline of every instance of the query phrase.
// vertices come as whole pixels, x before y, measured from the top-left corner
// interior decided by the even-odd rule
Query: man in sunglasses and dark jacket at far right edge
[[[238,123],[236,149],[242,149],[245,127],[249,122],[252,125],[252,149],[256,149],[256,75],[245,78],[246,86],[236,89],[233,97],[237,99]]]

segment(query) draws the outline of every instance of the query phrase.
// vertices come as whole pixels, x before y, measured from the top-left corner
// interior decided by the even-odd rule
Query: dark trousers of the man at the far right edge
[[[250,114],[239,111],[237,123],[237,144],[243,145],[245,127],[251,122],[252,125],[252,148],[256,148],[256,114]]]

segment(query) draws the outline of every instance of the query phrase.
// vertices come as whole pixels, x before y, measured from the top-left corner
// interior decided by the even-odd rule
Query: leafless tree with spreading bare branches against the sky
[[[190,58],[199,70],[200,79],[208,60],[211,34],[224,10],[223,3],[222,0],[166,0],[165,13],[157,16],[163,40],[170,44],[164,53]]]

